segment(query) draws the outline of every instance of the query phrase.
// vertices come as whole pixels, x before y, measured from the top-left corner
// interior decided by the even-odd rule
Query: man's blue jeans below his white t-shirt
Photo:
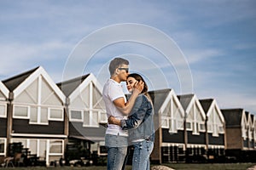
[[[107,169],[122,169],[128,146],[127,137],[106,134],[105,145],[108,149]]]

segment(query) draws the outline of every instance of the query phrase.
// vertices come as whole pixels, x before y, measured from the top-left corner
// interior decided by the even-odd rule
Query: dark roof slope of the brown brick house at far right
[[[242,116],[245,116],[243,109],[223,109],[221,112],[224,116],[226,127],[241,127]]]

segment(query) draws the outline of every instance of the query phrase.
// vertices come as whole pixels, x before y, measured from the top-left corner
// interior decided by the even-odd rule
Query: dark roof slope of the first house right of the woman
[[[159,112],[161,105],[163,105],[167,95],[171,92],[171,90],[172,89],[170,88],[166,88],[148,92],[154,105],[154,112]]]

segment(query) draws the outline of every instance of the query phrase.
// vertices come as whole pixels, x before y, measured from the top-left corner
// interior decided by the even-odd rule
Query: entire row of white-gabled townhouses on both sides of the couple
[[[151,161],[200,161],[255,151],[253,114],[220,110],[215,99],[177,95],[173,89],[149,94],[156,127]],[[55,84],[37,67],[0,82],[2,157],[9,156],[9,144],[17,142],[47,165],[67,157],[69,144],[104,156],[107,122],[102,85],[92,74]]]

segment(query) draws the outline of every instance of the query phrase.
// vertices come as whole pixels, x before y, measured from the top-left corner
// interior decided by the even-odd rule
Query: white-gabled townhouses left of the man
[[[76,139],[94,141],[84,148],[97,151],[105,133],[99,123],[107,122],[101,92],[92,74],[55,84],[42,67],[3,80],[0,156],[9,156],[9,144],[21,143],[49,165]]]

